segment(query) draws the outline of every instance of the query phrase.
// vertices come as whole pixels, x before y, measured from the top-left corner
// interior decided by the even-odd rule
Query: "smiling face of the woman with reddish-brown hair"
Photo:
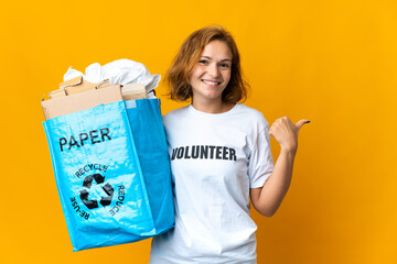
[[[232,73],[232,52],[225,42],[212,41],[193,67],[190,77],[193,100],[222,101]]]

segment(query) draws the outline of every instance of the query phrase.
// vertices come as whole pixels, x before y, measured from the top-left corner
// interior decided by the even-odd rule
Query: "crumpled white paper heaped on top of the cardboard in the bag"
[[[151,75],[143,64],[131,59],[122,58],[101,66],[94,63],[86,67],[85,74],[72,68],[64,75],[64,81],[82,76],[89,82],[100,82],[105,79],[110,80],[110,85],[142,84],[147,94],[158,87],[161,79],[160,75]]]

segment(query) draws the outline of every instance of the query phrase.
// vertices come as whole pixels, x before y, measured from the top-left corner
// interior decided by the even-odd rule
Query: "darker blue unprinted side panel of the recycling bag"
[[[138,99],[126,101],[126,105],[154,226],[158,233],[162,233],[170,229],[170,222],[174,222],[174,213],[170,157],[160,100]],[[169,184],[159,184],[163,179],[170,180]]]

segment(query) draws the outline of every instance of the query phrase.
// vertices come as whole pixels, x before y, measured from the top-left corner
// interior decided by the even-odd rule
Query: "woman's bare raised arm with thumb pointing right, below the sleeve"
[[[280,207],[291,183],[293,160],[298,148],[299,130],[309,120],[292,123],[283,117],[275,121],[269,134],[280,144],[281,151],[275,168],[264,187],[251,188],[250,199],[254,208],[265,217],[271,217]]]

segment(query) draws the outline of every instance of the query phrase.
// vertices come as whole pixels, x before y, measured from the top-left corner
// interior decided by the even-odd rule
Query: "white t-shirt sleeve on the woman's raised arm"
[[[248,176],[250,188],[260,188],[272,173],[275,167],[270,150],[269,125],[266,124],[258,133],[256,144],[249,155]]]

